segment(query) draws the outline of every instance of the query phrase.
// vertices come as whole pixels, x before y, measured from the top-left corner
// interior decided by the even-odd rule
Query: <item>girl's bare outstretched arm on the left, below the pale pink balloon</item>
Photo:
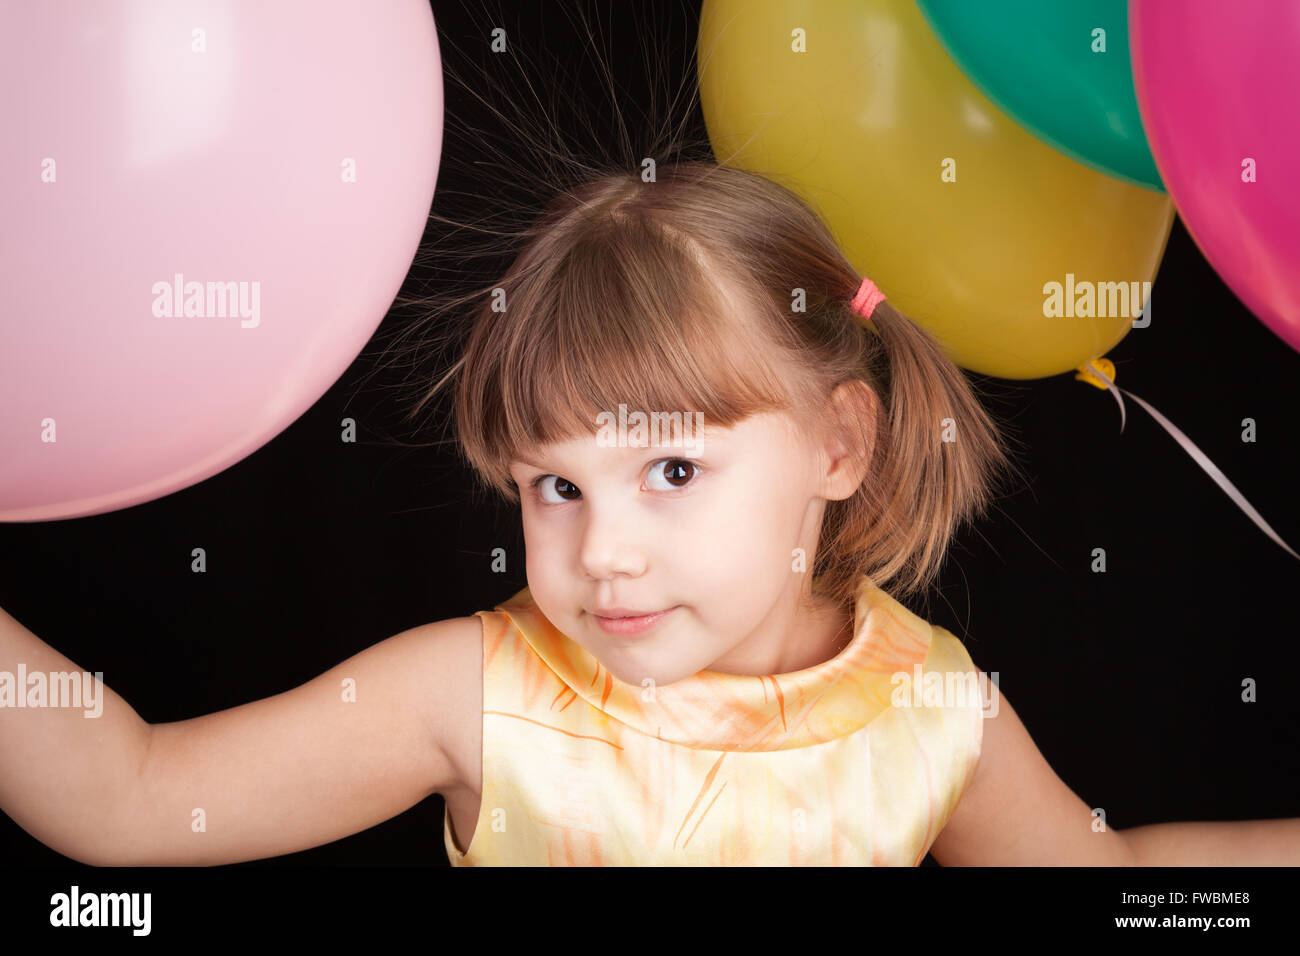
[[[481,633],[472,617],[424,624],[302,687],[174,723],[146,723],[103,685],[98,718],[0,709],[0,809],[109,866],[231,864],[359,832],[456,780],[451,701]],[[0,670],[20,662],[81,670],[0,610]]]

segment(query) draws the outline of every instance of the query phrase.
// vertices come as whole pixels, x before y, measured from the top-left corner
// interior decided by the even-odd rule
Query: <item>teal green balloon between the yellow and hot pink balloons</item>
[[[1165,191],[1138,111],[1128,0],[915,0],[971,82],[1093,169]]]

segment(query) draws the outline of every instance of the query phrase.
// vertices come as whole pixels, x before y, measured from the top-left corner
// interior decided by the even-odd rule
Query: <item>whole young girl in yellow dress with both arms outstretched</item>
[[[456,382],[521,505],[528,587],[190,721],[6,708],[5,813],[100,865],[295,852],[434,792],[456,865],[1295,862],[1296,821],[1098,826],[901,604],[1009,459],[792,193],[598,177],[489,291],[428,397]],[[20,667],[79,670],[0,613]]]

